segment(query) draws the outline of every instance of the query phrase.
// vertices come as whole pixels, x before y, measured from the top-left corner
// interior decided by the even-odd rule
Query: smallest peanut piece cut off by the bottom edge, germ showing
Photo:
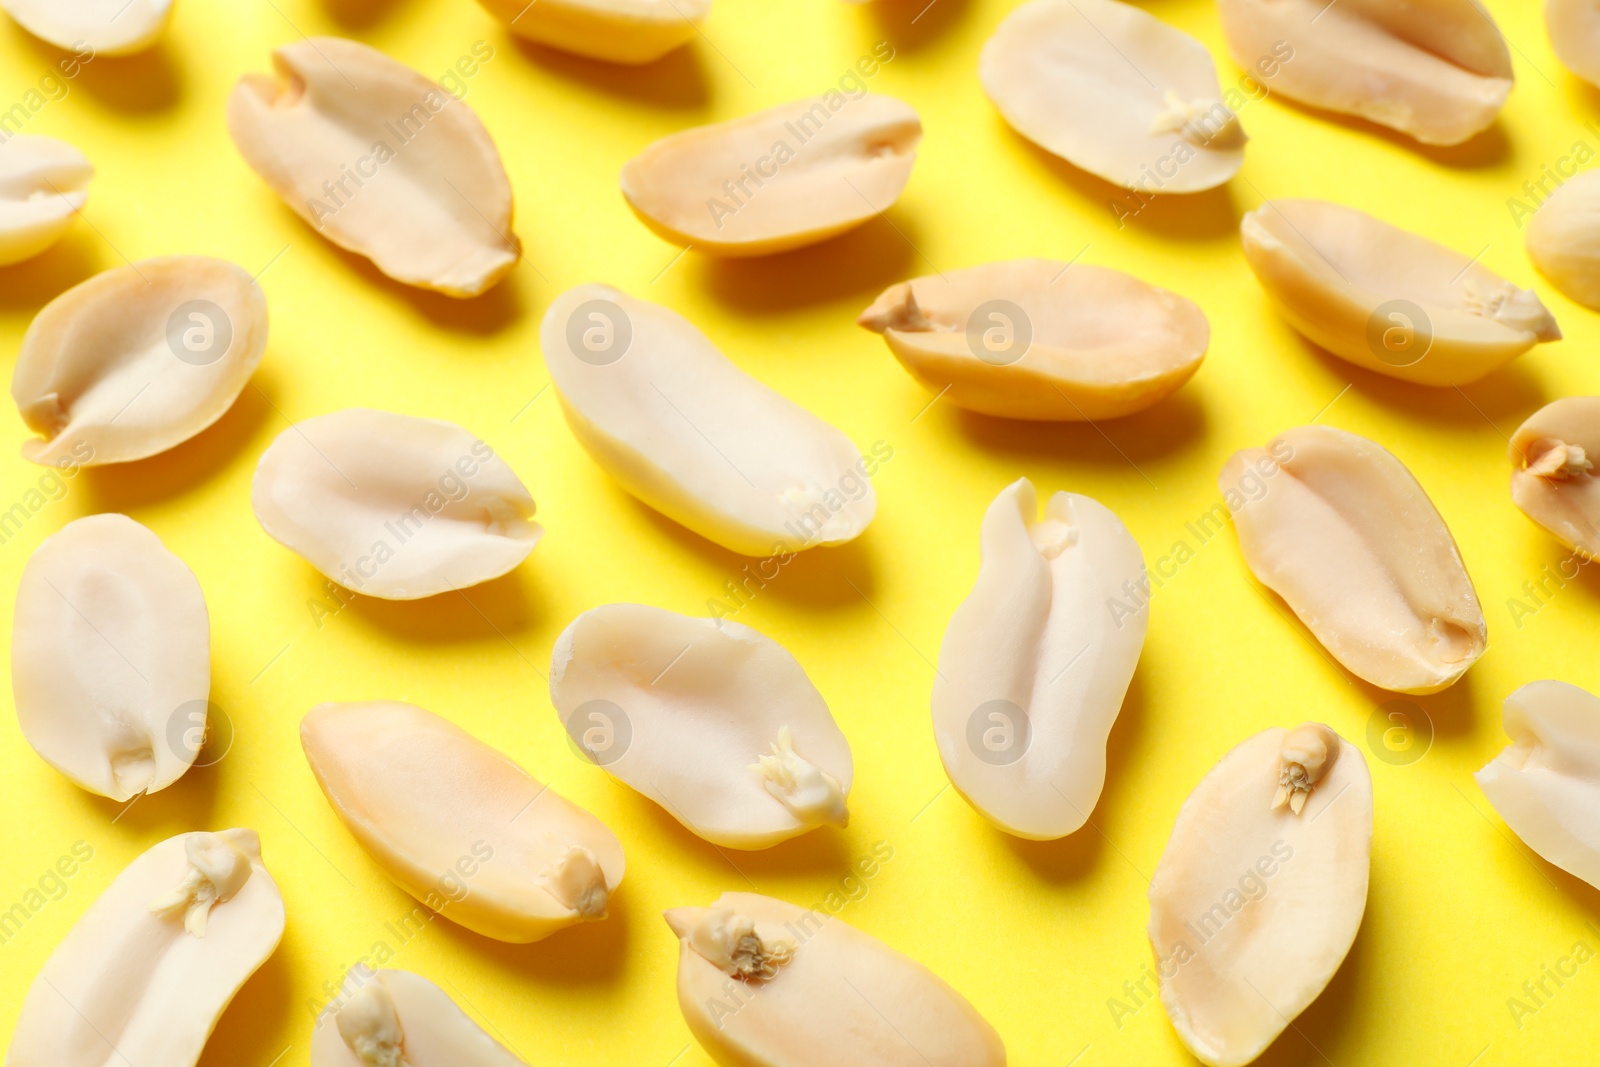
[[[411,971],[352,969],[317,1019],[310,1067],[528,1067],[434,982]]]

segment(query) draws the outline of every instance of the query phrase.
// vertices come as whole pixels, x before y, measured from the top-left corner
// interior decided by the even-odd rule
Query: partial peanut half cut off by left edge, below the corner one
[[[66,141],[30,133],[0,141],[0,267],[61,240],[93,176],[94,166]]]

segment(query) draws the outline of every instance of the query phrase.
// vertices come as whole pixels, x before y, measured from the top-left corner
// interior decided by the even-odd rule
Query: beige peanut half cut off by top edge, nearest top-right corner
[[[1286,48],[1270,86],[1422,144],[1485,130],[1512,88],[1510,51],[1478,0],[1218,0],[1246,70]]]

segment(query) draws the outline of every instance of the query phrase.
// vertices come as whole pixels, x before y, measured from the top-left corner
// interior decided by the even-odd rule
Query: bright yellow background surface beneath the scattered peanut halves
[[[216,427],[165,456],[86,470],[0,545],[10,597],[34,545],[72,518],[122,510],[152,526],[205,587],[213,694],[237,729],[221,763],[117,817],[117,805],[40,761],[10,717],[0,725],[10,813],[0,909],[74,841],[96,853],[64,899],[0,945],[0,1040],[38,966],[130,859],[182,830],[250,825],[283,889],[288,931],[203,1062],[306,1064],[307,1000],[320,1000],[323,982],[413,902],[334,819],[296,728],[322,701],[394,697],[506,750],[627,848],[627,878],[605,923],[514,947],[442,920],[395,958],[443,984],[531,1064],[707,1064],[678,1014],[677,945],[659,912],[750,886],[814,904],[877,841],[894,857],[842,917],[950,981],[998,1027],[1014,1064],[1192,1062],[1158,1005],[1120,1025],[1107,1008],[1149,961],[1146,877],[1179,803],[1253,731],[1322,718],[1365,745],[1374,709],[1390,699],[1334,667],[1251,582],[1230,531],[1197,545],[1184,530],[1216,502],[1216,472],[1234,450],[1320,414],[1387,445],[1432,494],[1477,582],[1490,649],[1454,688],[1414,701],[1437,734],[1424,758],[1370,758],[1376,832],[1362,933],[1262,1062],[1592,1059],[1600,965],[1586,965],[1520,1027],[1507,998],[1576,941],[1600,949],[1600,933],[1586,926],[1600,896],[1523,848],[1470,774],[1504,744],[1499,707],[1515,686],[1555,677],[1600,689],[1600,577],[1578,577],[1520,625],[1507,608],[1565,552],[1512,507],[1506,459],[1506,435],[1542,403],[1600,392],[1600,320],[1536,277],[1506,203],[1576,141],[1600,147],[1600,131],[1584,126],[1600,117],[1600,93],[1560,67],[1539,3],[1491,0],[1517,90],[1474,142],[1422,149],[1282,99],[1251,102],[1245,168],[1226,189],[1162,200],[1118,230],[1110,187],[1014,136],[978,85],[978,51],[1011,6],[938,0],[912,22],[922,0],[717,0],[704,38],[653,67],[622,69],[520,45],[470,0],[179,0],[160,48],[96,59],[34,118],[30,133],[77,144],[98,176],[85,219],[59,246],[0,270],[6,363],[58,293],[125,258],[170,253],[222,256],[251,272],[270,264],[261,285],[272,338],[253,387]],[[1146,6],[1203,40],[1222,83],[1237,83],[1210,2]],[[430,77],[475,42],[493,45],[467,102],[504,155],[526,248],[499,288],[456,302],[394,285],[317,237],[245,166],[222,122],[229,88],[302,34],[355,37]],[[818,93],[880,40],[896,58],[872,88],[915,104],[926,126],[888,221],[787,256],[722,264],[678,259],[632,218],[616,174],[650,141]],[[0,107],[58,58],[0,24]],[[1272,312],[1238,251],[1238,216],[1290,195],[1363,208],[1466,254],[1483,250],[1491,269],[1536,285],[1566,339],[1461,390],[1403,386],[1318,354]],[[1152,411],[1099,427],[994,421],[947,402],[923,413],[930,395],[853,325],[882,288],[934,267],[1080,253],[1192,298],[1211,320],[1205,366]],[[626,496],[568,434],[546,389],[538,325],[557,293],[592,280],[683,312],[742,368],[858,445],[894,448],[875,478],[878,518],[866,536],[803,553],[738,614],[794,651],[850,736],[848,832],[723,853],[565,739],[544,672],[574,614],[616,600],[704,614],[744,565]],[[256,525],[250,477],[290,421],[352,405],[453,419],[486,438],[539,501],[549,533],[538,550],[466,595],[358,600],[318,627],[307,603],[323,582]],[[3,406],[8,507],[42,470],[16,458],[27,434]],[[1106,502],[1152,566],[1179,539],[1197,547],[1155,595],[1093,827],[1058,843],[1008,838],[946,789],[928,721],[931,661],[976,573],[979,515],[1019,475]],[[0,617],[10,627],[10,611]]]

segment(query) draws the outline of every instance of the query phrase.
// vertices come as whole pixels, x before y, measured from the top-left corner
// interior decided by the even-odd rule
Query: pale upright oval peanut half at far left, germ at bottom
[[[176,782],[205,741],[211,627],[200,582],[126,515],[90,515],[22,568],[11,629],[22,736],[83,789]]]

